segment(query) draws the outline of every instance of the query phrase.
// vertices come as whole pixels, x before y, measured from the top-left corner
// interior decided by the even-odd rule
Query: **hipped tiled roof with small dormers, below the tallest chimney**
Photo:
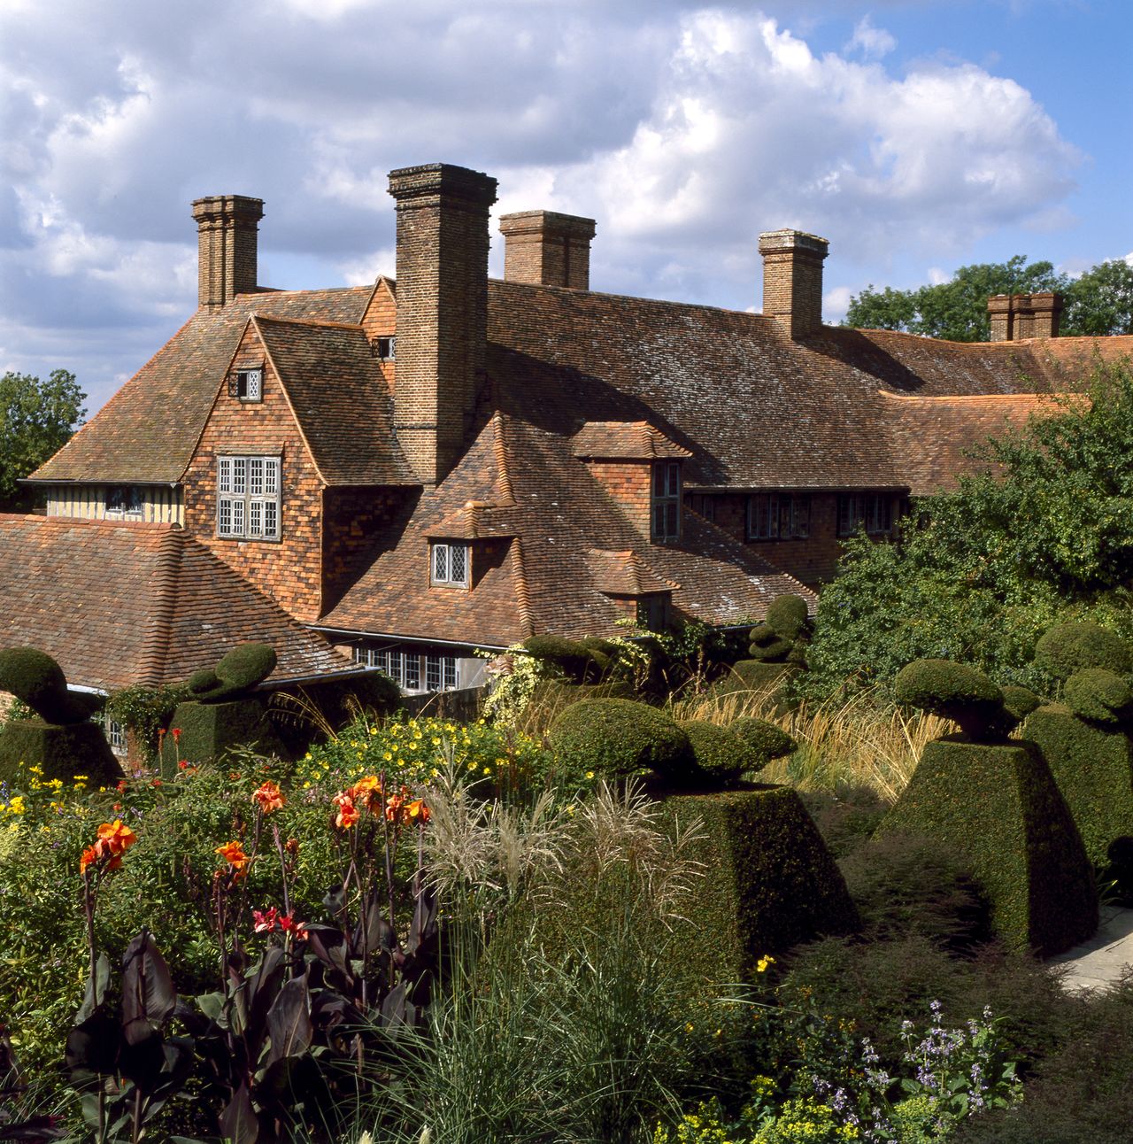
[[[596,548],[628,554],[619,557],[623,564],[637,565],[638,575],[660,585],[641,590],[671,590],[677,611],[709,622],[759,618],[784,591],[813,598],[695,513],[685,514],[679,542],[651,545],[573,455],[571,436],[549,424],[493,416],[453,472],[408,503],[402,518],[376,539],[370,566],[320,623],[492,646],[533,631],[614,634],[624,612],[607,595],[609,564],[595,559]],[[429,538],[440,537],[442,522],[469,500],[497,498],[497,458],[506,460],[514,496],[514,507],[496,510],[508,522],[506,531],[496,533],[501,547],[473,591],[430,587]],[[478,566],[474,550],[472,566]],[[621,575],[624,585],[624,569]]]

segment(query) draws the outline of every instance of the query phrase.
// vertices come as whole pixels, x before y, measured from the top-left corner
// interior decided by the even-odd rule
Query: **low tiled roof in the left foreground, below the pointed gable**
[[[349,667],[170,525],[0,514],[0,646],[39,648],[83,686],[174,683],[249,639],[276,649],[273,681]]]

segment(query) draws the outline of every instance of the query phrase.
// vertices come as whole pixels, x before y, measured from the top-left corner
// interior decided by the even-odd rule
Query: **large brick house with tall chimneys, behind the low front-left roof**
[[[476,649],[535,633],[813,598],[841,539],[889,535],[1094,347],[1045,295],[992,300],[987,344],[824,326],[828,244],[791,230],[760,236],[761,315],[592,291],[595,222],[544,210],[501,219],[492,280],[495,180],[389,189],[396,279],[322,291],[260,285],[260,199],[194,201],[197,312],[32,475],[46,523],[10,531],[176,535],[405,690],[466,686]]]

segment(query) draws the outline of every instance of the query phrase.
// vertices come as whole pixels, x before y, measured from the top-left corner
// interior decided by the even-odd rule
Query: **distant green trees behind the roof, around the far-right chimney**
[[[1028,263],[1016,254],[1006,262],[960,267],[950,281],[900,291],[868,286],[849,301],[846,326],[903,329],[954,342],[987,341],[988,299],[992,294],[1059,291],[1066,297],[1061,333],[1133,333],[1133,267],[1102,262],[1079,278],[1056,273],[1050,262]]]

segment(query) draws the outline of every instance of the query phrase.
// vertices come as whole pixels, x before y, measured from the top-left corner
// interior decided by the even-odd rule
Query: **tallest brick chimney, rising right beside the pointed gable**
[[[431,162],[390,172],[397,201],[393,427],[423,484],[457,462],[484,379],[496,181]]]

